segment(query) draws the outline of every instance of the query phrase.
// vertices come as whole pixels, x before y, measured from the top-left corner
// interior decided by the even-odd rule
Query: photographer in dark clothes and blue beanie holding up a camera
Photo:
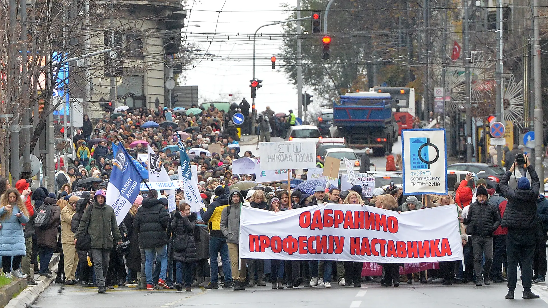
[[[521,264],[521,273],[523,276],[523,298],[540,297],[531,292],[533,256],[535,253],[536,233],[538,231],[536,199],[539,194],[540,181],[535,168],[530,166],[527,156],[524,155],[524,157],[526,158],[526,163],[523,167],[527,168],[532,184],[529,184],[529,180],[523,176],[517,181],[517,189],[512,189],[508,186],[510,176],[517,167],[516,162],[512,164],[512,167],[500,180],[500,191],[508,199],[501,223],[501,226],[508,228],[508,234],[506,235],[508,294],[506,294],[506,299],[514,298],[518,263]]]

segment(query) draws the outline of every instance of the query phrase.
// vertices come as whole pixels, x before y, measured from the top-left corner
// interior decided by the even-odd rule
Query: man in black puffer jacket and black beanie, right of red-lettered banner
[[[487,202],[487,190],[479,186],[476,191],[476,202],[470,204],[468,215],[464,224],[468,225],[466,233],[472,236],[472,249],[474,252],[474,270],[478,280],[476,286],[482,286],[485,282],[489,286],[489,272],[493,264],[493,232],[500,225],[499,209]],[[481,262],[485,254],[485,264]],[[481,273],[483,272],[483,278]]]

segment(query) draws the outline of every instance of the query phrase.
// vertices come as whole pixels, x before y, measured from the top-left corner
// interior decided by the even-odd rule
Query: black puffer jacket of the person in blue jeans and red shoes
[[[165,231],[169,223],[168,210],[155,198],[145,198],[135,214],[133,232],[139,233],[141,248],[158,248],[167,244]]]

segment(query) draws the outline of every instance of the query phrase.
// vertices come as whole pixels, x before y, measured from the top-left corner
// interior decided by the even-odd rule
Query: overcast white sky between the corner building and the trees
[[[234,94],[246,98],[251,103],[249,80],[252,79],[252,34],[261,25],[287,19],[288,13],[284,12],[283,3],[287,1],[202,0],[193,3],[189,0],[186,9],[190,14],[187,13],[185,22],[187,27],[183,28],[183,35],[185,36],[186,32],[187,42],[197,43],[199,49],[202,49],[202,54],[206,53],[206,50],[208,54],[213,54],[214,61],[204,58],[199,62],[201,58],[198,58],[196,63],[199,62],[199,64],[196,67],[187,67],[187,78],[182,85],[198,85],[199,97],[207,101],[229,101],[229,94]],[[291,4],[296,5],[296,1]],[[190,10],[192,5],[193,9]],[[221,8],[220,14],[201,11],[219,11]],[[249,12],[250,10],[268,12]],[[216,22],[218,16],[219,22]],[[259,31],[259,33],[277,33],[278,35],[282,32],[281,25],[267,26]],[[212,33],[216,35],[213,43],[209,44]],[[237,33],[240,36],[237,36]],[[248,36],[249,34],[251,35]],[[279,65],[276,65],[276,70],[271,68],[270,57],[279,52],[282,41],[279,38],[272,40],[264,40],[264,38],[265,36],[256,43],[255,76],[263,81],[263,87],[257,90],[256,109],[262,111],[270,105],[276,112],[294,109],[296,113],[295,85],[288,80],[284,72],[279,71]],[[278,59],[277,64],[282,62]]]

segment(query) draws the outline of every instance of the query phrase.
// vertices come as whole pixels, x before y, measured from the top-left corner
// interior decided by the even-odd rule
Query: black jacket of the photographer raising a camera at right
[[[508,181],[512,173],[507,171],[500,179],[500,191],[508,199],[501,226],[509,229],[533,230],[537,227],[536,199],[539,196],[540,181],[533,166],[527,167],[531,176],[530,189],[512,189]]]

